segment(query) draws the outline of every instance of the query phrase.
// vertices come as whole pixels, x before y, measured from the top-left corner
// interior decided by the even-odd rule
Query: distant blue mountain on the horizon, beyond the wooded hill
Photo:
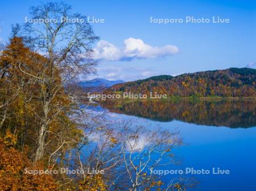
[[[86,91],[88,90],[98,91],[98,90],[104,90],[106,88],[109,88],[110,86],[113,86],[115,84],[121,84],[124,82],[125,81],[123,80],[110,81],[110,80],[105,80],[103,78],[95,78],[89,81],[80,81],[78,82],[78,85]]]

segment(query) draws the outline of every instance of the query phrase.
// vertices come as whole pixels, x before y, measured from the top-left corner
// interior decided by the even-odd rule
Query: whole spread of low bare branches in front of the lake
[[[133,121],[110,122],[95,129],[88,141],[82,167],[103,170],[109,190],[183,190],[183,179],[163,182],[162,176],[152,173],[179,162],[172,152],[183,144],[179,132],[137,126]]]

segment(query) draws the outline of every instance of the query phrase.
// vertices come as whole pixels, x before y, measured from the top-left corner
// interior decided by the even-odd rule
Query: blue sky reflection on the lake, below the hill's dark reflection
[[[176,156],[183,163],[175,167],[184,169],[210,169],[213,167],[228,169],[230,175],[197,175],[200,188],[196,190],[253,190],[256,172],[256,128],[228,128],[201,126],[179,121],[155,122],[124,114],[110,113],[117,121],[133,120],[136,124],[145,124],[149,128],[160,126],[180,131],[185,146],[175,148]],[[167,167],[165,169],[171,169]],[[164,176],[168,181],[172,177]]]

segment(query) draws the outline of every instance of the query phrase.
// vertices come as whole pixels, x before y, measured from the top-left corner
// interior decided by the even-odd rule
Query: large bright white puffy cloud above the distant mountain
[[[179,52],[175,45],[164,45],[163,47],[152,47],[145,44],[141,39],[129,38],[123,41],[123,47],[116,47],[108,41],[101,40],[94,48],[94,59],[118,61],[148,59],[174,55]]]

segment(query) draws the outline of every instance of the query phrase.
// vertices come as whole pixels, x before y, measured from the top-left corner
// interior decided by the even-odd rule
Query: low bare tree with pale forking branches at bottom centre
[[[123,126],[120,130],[120,147],[123,171],[129,190],[157,190],[164,187],[170,189],[174,184],[164,185],[161,177],[152,173],[154,169],[174,163],[172,149],[182,144],[178,132],[170,132],[155,127]],[[118,179],[117,179],[118,180]],[[172,182],[179,182],[171,180]]]

